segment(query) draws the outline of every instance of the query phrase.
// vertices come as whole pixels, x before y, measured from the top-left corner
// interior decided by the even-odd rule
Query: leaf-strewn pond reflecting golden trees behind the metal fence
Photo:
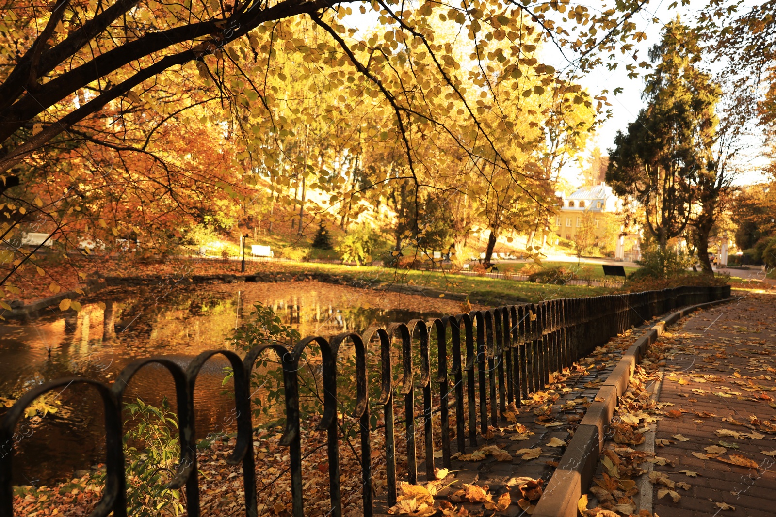
[[[461,311],[452,301],[317,281],[106,289],[88,298],[78,313],[0,325],[0,397],[18,398],[57,377],[112,381],[143,357],[165,356],[185,367],[203,350],[230,347],[230,336],[250,317],[255,302],[271,305],[302,336],[358,332]],[[231,430],[224,424],[234,408],[223,394],[226,366],[226,360],[214,358],[196,381],[198,439]],[[133,378],[125,402],[140,398],[158,405],[163,396],[175,400],[171,377],[150,366]],[[102,405],[91,391],[71,387],[46,402],[57,410],[18,443],[16,484],[61,481],[105,456]]]

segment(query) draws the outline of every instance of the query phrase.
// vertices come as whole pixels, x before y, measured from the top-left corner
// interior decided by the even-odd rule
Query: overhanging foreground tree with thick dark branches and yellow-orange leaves
[[[0,235],[18,236],[20,224],[45,214],[53,238],[67,227],[113,237],[131,228],[147,233],[152,246],[168,246],[178,239],[178,210],[192,224],[215,218],[233,226],[233,205],[255,198],[265,181],[281,185],[283,195],[272,197],[280,202],[290,191],[299,191],[301,202],[302,191],[320,187],[358,206],[358,186],[347,179],[343,185],[346,174],[331,164],[358,156],[364,141],[398,143],[411,188],[436,171],[426,167],[418,143],[444,139],[479,167],[477,174],[495,165],[542,204],[509,151],[518,135],[506,143],[494,136],[513,127],[494,109],[494,88],[529,98],[572,85],[576,74],[600,63],[600,53],[627,50],[643,38],[631,21],[642,6],[627,0],[591,12],[539,0],[410,8],[382,0],[336,8],[320,0],[6,0],[0,174],[11,204],[4,204]],[[369,9],[382,29],[359,33],[348,26],[352,9]],[[561,77],[539,62],[534,52],[541,40],[567,53],[570,74]],[[475,68],[461,66],[462,50],[453,43],[468,47]],[[293,81],[314,80],[314,92],[328,95],[289,107],[289,62]],[[583,91],[573,96],[587,107],[593,101]],[[338,124],[361,107],[378,123]],[[326,123],[337,131],[315,134],[331,140],[318,149],[323,154],[289,146],[303,136],[301,127],[307,132]],[[178,135],[188,136],[163,145]],[[309,160],[300,165],[304,156]],[[44,163],[61,167],[51,171]],[[79,215],[85,208],[88,215]],[[5,278],[31,257],[18,252]]]

